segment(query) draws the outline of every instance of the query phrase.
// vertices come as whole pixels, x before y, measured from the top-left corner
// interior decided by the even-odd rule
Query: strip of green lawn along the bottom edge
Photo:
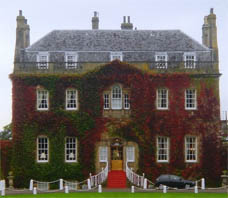
[[[7,195],[6,198],[228,198],[226,193],[128,193],[128,192],[103,192],[103,193],[51,193],[37,195]]]

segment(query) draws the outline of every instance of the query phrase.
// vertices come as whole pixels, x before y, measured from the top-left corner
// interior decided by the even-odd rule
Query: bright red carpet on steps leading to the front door
[[[108,173],[108,188],[126,188],[126,173],[124,171],[110,171]]]

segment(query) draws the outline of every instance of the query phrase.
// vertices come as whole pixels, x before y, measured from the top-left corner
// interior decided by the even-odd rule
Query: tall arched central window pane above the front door
[[[112,88],[112,109],[122,109],[122,90],[119,85]]]

